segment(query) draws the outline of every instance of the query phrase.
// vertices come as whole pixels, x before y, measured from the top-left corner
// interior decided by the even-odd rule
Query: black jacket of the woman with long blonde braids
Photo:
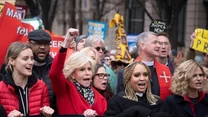
[[[105,117],[171,117],[170,107],[162,100],[151,105],[145,94],[138,97],[138,102],[126,99],[124,95],[120,92],[110,99]]]

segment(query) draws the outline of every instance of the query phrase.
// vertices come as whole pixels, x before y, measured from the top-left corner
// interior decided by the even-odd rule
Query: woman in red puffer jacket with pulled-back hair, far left
[[[0,82],[0,104],[8,117],[30,115],[51,116],[48,89],[32,74],[34,64],[31,48],[21,42],[12,43],[6,54],[6,71]]]

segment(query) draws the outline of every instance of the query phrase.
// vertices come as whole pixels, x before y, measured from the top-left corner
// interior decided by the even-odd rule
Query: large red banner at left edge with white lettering
[[[34,30],[32,26],[22,23],[16,7],[5,2],[2,15],[0,17],[0,65],[4,62],[7,48],[14,41],[25,42],[28,33]]]

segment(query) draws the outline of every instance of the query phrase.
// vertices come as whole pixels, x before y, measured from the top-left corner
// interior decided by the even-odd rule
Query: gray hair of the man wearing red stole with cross
[[[147,32],[143,32],[143,33],[139,34],[139,35],[136,37],[136,46],[137,46],[138,49],[140,48],[140,47],[139,47],[140,43],[141,43],[141,42],[144,42],[144,41],[148,38],[149,35],[155,35],[155,36],[157,36],[156,33],[147,31]],[[140,49],[139,49],[139,50],[140,50]]]

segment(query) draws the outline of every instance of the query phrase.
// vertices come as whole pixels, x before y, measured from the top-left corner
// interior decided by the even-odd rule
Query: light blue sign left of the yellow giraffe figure
[[[105,40],[107,32],[107,24],[105,22],[88,20],[87,26],[88,36],[99,35],[103,40]]]

